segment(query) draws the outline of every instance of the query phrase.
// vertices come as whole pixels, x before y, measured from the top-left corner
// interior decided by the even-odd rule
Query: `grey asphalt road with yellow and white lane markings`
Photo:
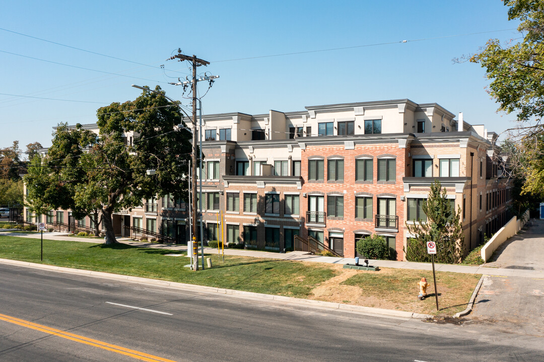
[[[532,362],[544,360],[544,339],[487,333],[474,323],[436,325],[275,306],[0,265],[1,361],[137,356],[178,362]]]

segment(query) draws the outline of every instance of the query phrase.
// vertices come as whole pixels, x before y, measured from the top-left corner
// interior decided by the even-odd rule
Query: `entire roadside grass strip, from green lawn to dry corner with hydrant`
[[[44,239],[44,261],[40,262],[40,239],[0,236],[0,258],[5,259],[426,314],[453,315],[465,309],[479,279],[479,275],[437,272],[441,310],[436,313],[434,295],[417,300],[419,279],[425,276],[432,283],[428,271],[384,268],[369,272],[240,256],[225,256],[222,262],[214,254],[207,256],[213,268],[193,272],[184,267],[189,258],[165,256],[175,253],[180,252]],[[432,286],[429,291],[434,293]]]

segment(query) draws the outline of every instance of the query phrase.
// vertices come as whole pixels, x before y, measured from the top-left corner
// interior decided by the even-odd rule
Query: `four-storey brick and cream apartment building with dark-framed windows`
[[[466,252],[510,217],[497,134],[436,103],[398,99],[204,119],[205,240],[221,237],[222,215],[225,242],[248,249],[293,250],[299,235],[354,257],[356,240],[376,233],[391,258],[403,260],[411,237],[406,224],[425,220],[423,200],[435,180],[461,208]],[[74,222],[68,213],[57,217]],[[119,235],[132,225],[182,243],[189,239],[187,213],[183,200],[166,195],[113,221]]]

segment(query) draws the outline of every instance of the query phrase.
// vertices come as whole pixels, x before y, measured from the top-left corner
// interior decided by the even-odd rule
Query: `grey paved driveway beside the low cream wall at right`
[[[495,252],[489,268],[535,272],[535,277],[486,275],[472,319],[500,331],[544,336],[544,220],[531,219]]]

